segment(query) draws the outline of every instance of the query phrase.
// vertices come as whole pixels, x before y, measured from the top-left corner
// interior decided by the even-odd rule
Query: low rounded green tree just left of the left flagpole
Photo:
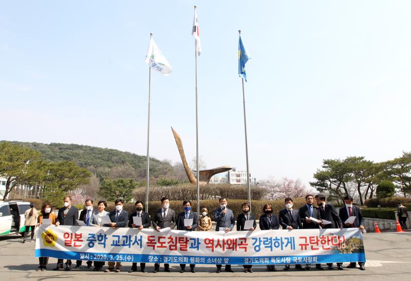
[[[108,201],[123,198],[125,202],[128,202],[133,198],[132,192],[138,186],[138,182],[134,179],[105,179],[100,186],[99,195]]]

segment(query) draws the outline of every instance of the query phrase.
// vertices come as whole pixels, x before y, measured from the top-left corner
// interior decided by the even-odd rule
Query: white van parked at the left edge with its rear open
[[[24,212],[30,209],[30,202],[0,201],[0,236],[22,234],[26,231],[24,226]]]

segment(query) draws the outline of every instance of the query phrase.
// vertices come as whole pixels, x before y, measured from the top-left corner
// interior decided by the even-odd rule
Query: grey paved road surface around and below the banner
[[[65,278],[76,278],[79,280],[110,280],[113,278],[121,280],[135,280],[141,277],[150,277],[153,279],[172,278],[193,279],[205,278],[207,280],[246,280],[250,277],[265,279],[302,279],[308,278],[321,280],[411,280],[411,232],[406,233],[367,233],[364,235],[365,251],[367,263],[366,270],[346,269],[341,270],[315,270],[310,271],[283,271],[267,272],[265,267],[254,266],[254,273],[242,272],[242,266],[234,266],[235,273],[215,273],[215,267],[197,266],[197,272],[179,273],[179,266],[174,265],[172,273],[158,272],[154,273],[127,273],[130,263],[124,263],[123,272],[104,273],[93,272],[85,266],[81,270],[71,271],[51,271],[55,267],[57,259],[50,258],[50,264],[47,271],[36,272],[38,267],[38,258],[33,257],[34,243],[22,243],[18,236],[0,237],[0,279],[1,280],[62,280]],[[85,264],[83,262],[83,264]],[[347,264],[344,264],[344,266]],[[187,267],[189,269],[189,267]],[[152,271],[153,265],[147,264],[147,269]]]

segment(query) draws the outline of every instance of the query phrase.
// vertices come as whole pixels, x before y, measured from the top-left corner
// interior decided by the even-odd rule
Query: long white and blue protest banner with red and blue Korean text
[[[224,233],[40,226],[36,238],[36,257],[209,265],[365,262],[358,228]]]

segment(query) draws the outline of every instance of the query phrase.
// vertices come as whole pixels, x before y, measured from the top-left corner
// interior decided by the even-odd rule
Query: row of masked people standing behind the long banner
[[[314,198],[319,207],[313,205]],[[339,213],[336,211],[334,206],[326,202],[324,195],[319,194],[315,197],[311,194],[305,197],[306,204],[298,210],[293,208],[292,198],[285,198],[284,204],[285,208],[279,211],[278,217],[273,213],[273,208],[271,204],[265,204],[263,207],[263,215],[259,217],[259,228],[261,230],[277,230],[281,226],[283,230],[293,230],[293,229],[319,229],[319,228],[360,228],[364,229],[364,219],[361,215],[361,210],[357,206],[352,204],[352,197],[346,196],[344,198],[345,207],[341,208]],[[185,231],[211,231],[212,221],[208,214],[207,208],[202,208],[201,216],[198,218],[197,213],[193,212],[191,209],[191,202],[185,200],[182,202],[183,211],[178,215],[174,210],[170,208],[170,200],[166,197],[161,199],[161,208],[156,211],[153,218],[143,211],[143,203],[137,201],[135,203],[136,211],[132,214],[128,214],[127,211],[123,209],[123,200],[117,199],[115,201],[116,210],[112,212],[105,211],[107,203],[101,200],[97,204],[98,210],[93,207],[93,200],[87,199],[85,201],[85,208],[81,211],[79,215],[79,210],[71,204],[71,197],[64,197],[64,207],[59,209],[58,215],[55,216],[51,212],[51,205],[49,203],[44,203],[41,214],[38,216],[39,226],[43,219],[50,219],[51,224],[56,227],[62,226],[76,226],[78,223],[76,220],[82,220],[86,226],[90,227],[113,227],[113,228],[153,228],[157,231],[163,228],[174,229]],[[227,198],[219,199],[219,207],[214,211],[214,221],[216,222],[216,231],[230,232],[233,230],[235,225],[235,219],[233,211],[227,208],[228,200]],[[32,208],[27,210],[28,215],[34,216],[37,211]],[[256,218],[254,214],[250,212],[250,205],[247,202],[241,204],[242,213],[237,217],[237,231],[254,231],[257,227]],[[109,224],[102,223],[102,216],[108,215],[110,218]],[[355,216],[353,223],[344,223],[348,217]],[[133,222],[133,217],[141,217],[141,226],[136,226]],[[314,222],[311,218],[315,219]],[[184,225],[184,219],[193,219],[191,226]],[[328,220],[331,223],[323,224],[322,219]],[[250,229],[244,229],[247,220],[253,220],[253,226]],[[33,232],[32,232],[33,233]],[[33,235],[33,234],[32,234]],[[33,236],[32,236],[33,238]],[[24,236],[23,242],[26,241],[26,235]],[[57,267],[53,270],[63,269],[63,259],[58,259]],[[48,263],[48,257],[39,257],[39,268],[36,271],[45,271]],[[92,268],[93,261],[87,261],[87,268]],[[71,260],[66,260],[65,270],[71,269]],[[121,262],[108,261],[108,267],[104,270],[105,272],[120,272]],[[358,263],[361,270],[365,270],[364,263]],[[80,269],[82,265],[82,260],[76,261],[76,266],[74,269]],[[104,266],[104,261],[94,261],[94,270],[101,271]],[[180,264],[180,272],[185,272],[185,264]],[[332,264],[327,264],[328,269],[334,269]],[[170,265],[164,264],[164,271],[171,272]],[[222,265],[216,265],[217,273],[221,272]],[[244,272],[253,272],[251,265],[244,265]],[[355,268],[356,263],[350,263],[347,268]],[[310,265],[307,264],[303,268],[302,265],[295,265],[297,270],[310,270]],[[316,269],[323,270],[324,268],[321,264],[315,265]],[[342,263],[337,263],[337,268],[343,270]],[[290,269],[289,265],[283,268],[285,271]],[[154,273],[160,270],[160,264],[154,264]],[[268,271],[275,271],[274,265],[267,266]],[[128,272],[137,271],[137,263],[133,263],[132,267]],[[140,263],[140,271],[147,272],[145,263]],[[195,273],[195,265],[190,265],[190,271]],[[234,272],[231,265],[225,266],[225,271]]]

